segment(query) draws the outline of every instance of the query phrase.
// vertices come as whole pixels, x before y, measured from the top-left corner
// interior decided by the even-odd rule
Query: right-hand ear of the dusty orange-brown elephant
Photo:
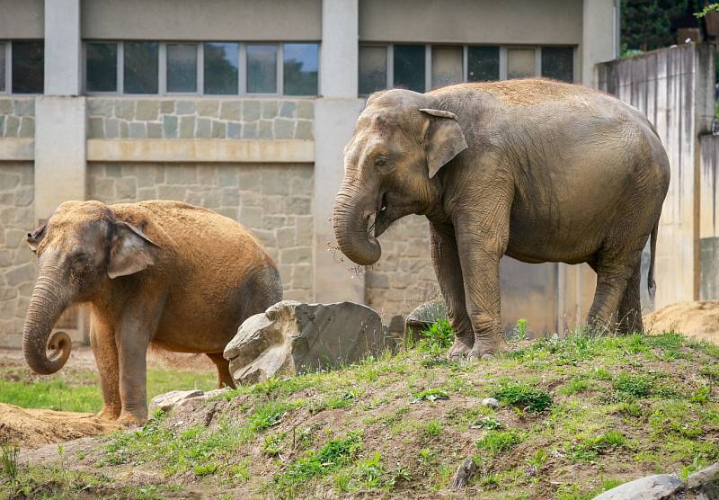
[[[110,249],[110,263],[107,266],[108,276],[111,279],[128,276],[153,265],[153,246],[159,248],[141,230],[127,222],[117,222],[117,232],[112,238]]]

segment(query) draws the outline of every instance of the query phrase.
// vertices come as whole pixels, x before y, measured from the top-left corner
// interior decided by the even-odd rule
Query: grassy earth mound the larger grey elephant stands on
[[[719,460],[712,344],[577,334],[448,362],[442,342],[237,388],[208,403],[219,408],[209,427],[155,415],[82,460],[19,466],[0,497],[447,496],[469,456],[478,469],[459,496],[577,500]],[[133,486],[150,477],[144,492]]]

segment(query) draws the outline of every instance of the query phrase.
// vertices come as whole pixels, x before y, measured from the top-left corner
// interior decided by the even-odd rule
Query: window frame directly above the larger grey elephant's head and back
[[[442,42],[442,43],[411,43],[411,42],[402,42],[399,43],[399,45],[424,45],[425,49],[425,59],[424,59],[424,92],[430,92],[432,89],[431,86],[431,79],[432,79],[432,47],[461,47],[462,48],[462,81],[460,83],[467,83],[468,82],[468,75],[469,75],[469,48],[470,47],[497,47],[499,49],[499,57],[500,57],[500,67],[499,67],[499,78],[497,81],[503,81],[507,80],[507,58],[508,58],[508,51],[509,49],[533,49],[535,53],[534,57],[534,64],[535,64],[535,77],[541,77],[542,76],[542,48],[544,47],[558,47],[558,48],[564,48],[564,49],[572,49],[572,58],[573,58],[573,81],[571,83],[578,84],[581,83],[581,79],[579,78],[579,57],[578,57],[578,46],[576,45],[557,45],[557,44],[547,44],[547,45],[527,45],[527,44],[518,44],[518,45],[498,45],[498,44],[492,44],[492,43],[450,43],[450,42]],[[369,41],[369,42],[359,42],[359,47],[383,47],[386,49],[386,89],[394,88],[394,54],[395,54],[395,43],[394,42],[377,42],[377,41]],[[359,53],[359,52],[358,52]],[[359,62],[358,62],[359,64]],[[568,82],[569,83],[569,82]],[[359,94],[359,83],[358,83],[358,96],[359,97],[368,97],[368,94]]]

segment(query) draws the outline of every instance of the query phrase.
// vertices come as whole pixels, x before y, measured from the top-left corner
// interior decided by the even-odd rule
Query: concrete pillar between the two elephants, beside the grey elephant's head
[[[332,209],[342,183],[342,149],[364,106],[357,97],[358,0],[324,0],[320,98],[315,101],[315,301],[364,302],[364,275],[333,252]]]

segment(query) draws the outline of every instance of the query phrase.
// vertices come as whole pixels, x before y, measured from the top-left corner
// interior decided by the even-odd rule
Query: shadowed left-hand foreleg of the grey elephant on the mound
[[[466,314],[465,283],[462,280],[454,231],[431,224],[430,247],[439,290],[447,304],[449,323],[455,331],[455,342],[449,349],[448,358],[462,359],[472,350],[475,333]]]

